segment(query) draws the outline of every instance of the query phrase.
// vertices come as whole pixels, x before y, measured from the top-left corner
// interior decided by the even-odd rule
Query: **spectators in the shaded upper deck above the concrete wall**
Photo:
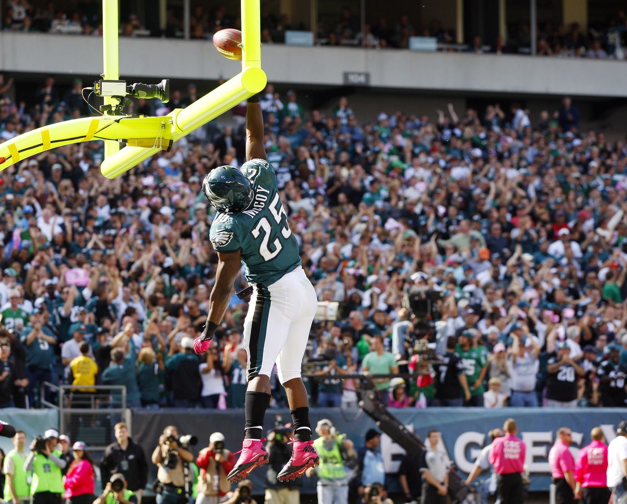
[[[352,12],[347,6],[338,6],[338,18],[335,23],[319,20],[315,43],[325,46],[361,46],[365,48],[400,48],[409,47],[409,38],[422,36],[435,38],[444,51],[468,51],[471,53],[529,54],[530,26],[520,22],[510,26],[507,39],[498,36],[495,40],[482,40],[474,36],[472,43],[457,45],[455,29],[441,26],[433,19],[421,26],[417,19],[402,14],[398,19],[382,16],[376,22],[367,22],[362,29],[359,13]],[[423,23],[424,24],[424,23]],[[48,3],[27,0],[11,0],[1,18],[1,28],[8,31],[48,32],[65,34],[102,34],[102,16],[97,4],[82,6],[80,10],[64,11]],[[189,23],[189,36],[192,39],[208,40],[219,29],[240,28],[240,14],[220,4],[215,8],[206,8],[202,4],[192,6]],[[262,6],[261,38],[264,44],[284,43],[285,31],[307,30],[302,23],[291,23],[287,14],[273,13],[268,4]],[[122,36],[164,36],[182,38],[184,21],[182,14],[174,8],[167,9],[164,28],[146,29],[136,14],[129,14],[120,23]],[[561,58],[594,58],[624,60],[624,47],[627,46],[627,17],[624,11],[608,16],[605,23],[594,22],[585,31],[579,23],[558,26],[552,21],[539,23],[537,35],[537,55],[559,56]]]

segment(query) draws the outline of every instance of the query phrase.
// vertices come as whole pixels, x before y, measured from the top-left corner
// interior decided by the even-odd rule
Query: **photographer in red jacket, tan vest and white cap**
[[[226,475],[235,466],[234,454],[224,448],[223,433],[209,436],[209,446],[198,454],[196,465],[200,470],[196,504],[218,504],[231,490]]]

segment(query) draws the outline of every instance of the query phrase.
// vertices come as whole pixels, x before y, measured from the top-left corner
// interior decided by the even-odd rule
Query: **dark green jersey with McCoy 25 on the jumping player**
[[[250,283],[268,286],[300,266],[298,241],[292,234],[270,164],[253,159],[241,166],[253,186],[253,202],[244,211],[218,213],[209,238],[219,252],[241,250]]]

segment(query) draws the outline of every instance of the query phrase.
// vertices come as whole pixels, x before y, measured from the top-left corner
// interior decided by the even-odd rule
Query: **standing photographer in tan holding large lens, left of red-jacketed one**
[[[161,493],[157,493],[157,504],[186,504],[191,495],[192,470],[188,464],[194,461],[191,451],[177,443],[179,431],[169,425],[159,436],[159,445],[152,452],[152,463],[159,468],[157,480]],[[189,484],[190,488],[186,488]]]

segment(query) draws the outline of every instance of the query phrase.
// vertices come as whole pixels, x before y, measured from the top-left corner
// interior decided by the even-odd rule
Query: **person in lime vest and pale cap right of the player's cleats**
[[[315,428],[320,436],[314,441],[314,448],[320,456],[320,465],[307,470],[307,476],[318,475],[319,504],[347,504],[349,500],[349,480],[357,454],[350,439],[336,434],[330,420],[323,418]]]

